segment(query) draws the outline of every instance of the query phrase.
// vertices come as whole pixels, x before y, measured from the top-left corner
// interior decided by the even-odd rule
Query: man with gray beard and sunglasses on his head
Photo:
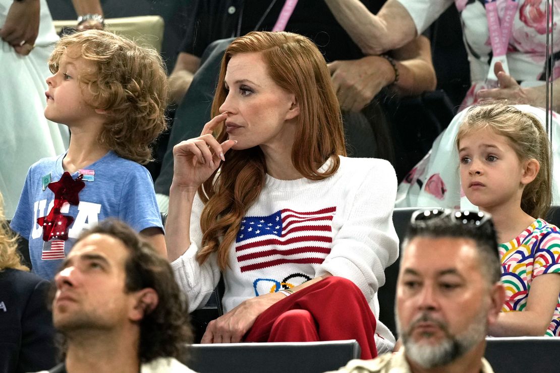
[[[496,233],[489,217],[456,214],[428,210],[412,217],[396,290],[404,348],[351,360],[339,372],[492,372],[483,358],[486,334],[505,292]]]

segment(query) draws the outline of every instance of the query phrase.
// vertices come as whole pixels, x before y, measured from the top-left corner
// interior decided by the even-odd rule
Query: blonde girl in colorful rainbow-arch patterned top
[[[492,336],[560,335],[560,232],[550,207],[550,143],[540,121],[506,103],[474,106],[456,138],[461,187],[491,213],[506,302]]]

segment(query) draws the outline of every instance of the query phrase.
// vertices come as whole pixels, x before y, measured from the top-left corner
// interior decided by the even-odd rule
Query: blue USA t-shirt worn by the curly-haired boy
[[[29,239],[32,272],[47,280],[54,277],[82,230],[98,221],[118,218],[137,232],[153,226],[163,229],[150,173],[140,164],[111,151],[85,168],[95,174],[94,181],[85,181],[78,194],[80,203],[74,206],[65,202],[60,209],[63,215],[74,218],[68,228],[68,239],[45,242],[43,228],[36,221],[49,214],[54,193],[49,188],[43,190],[43,178],[50,174],[50,181],[60,180],[65,155],[44,158],[31,166],[10,224],[15,232]],[[78,175],[75,172],[72,178],[75,180]]]

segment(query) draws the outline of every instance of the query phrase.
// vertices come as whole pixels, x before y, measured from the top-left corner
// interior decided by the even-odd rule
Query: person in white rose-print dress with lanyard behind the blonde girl
[[[357,0],[325,1],[342,25],[370,25],[356,27],[352,34],[354,39],[359,40],[361,48],[369,53],[382,53],[384,50],[408,43],[453,3],[452,0],[388,0],[378,15],[374,15],[365,12],[365,8]],[[516,103],[546,107],[545,68],[552,67],[551,79],[556,80],[555,52],[560,48],[560,43],[553,45],[550,60],[545,60],[548,37],[546,3],[511,2],[516,7],[511,13],[511,33],[507,40],[500,43],[499,48],[488,41],[489,27],[485,3],[455,3],[461,15],[473,84],[465,97],[464,105],[470,105],[477,100],[507,99]],[[506,12],[506,3],[508,2],[493,3],[497,5],[496,17]],[[557,2],[553,2],[552,5],[557,11],[560,10]],[[353,14],[358,14],[358,17],[351,18]],[[506,30],[509,25],[502,26],[502,29]],[[554,27],[550,29],[554,31]],[[501,39],[498,37],[498,40]],[[498,52],[504,54],[500,55]],[[499,88],[496,88],[498,86]],[[554,84],[554,91],[556,90],[558,84]],[[560,92],[553,92],[553,97],[558,98],[558,95]],[[557,99],[552,102],[552,108],[556,108],[556,102],[560,101]],[[459,207],[460,187],[455,162],[457,158],[450,157],[450,154],[455,154],[455,134],[463,115],[459,114],[451,121],[446,131],[434,142],[432,150],[405,177],[399,186],[398,206]],[[552,115],[552,123],[556,128],[556,115]],[[553,157],[558,157],[557,154],[559,153],[555,151]],[[554,174],[558,172],[560,168],[556,168]],[[560,191],[555,185],[553,201],[559,198]]]

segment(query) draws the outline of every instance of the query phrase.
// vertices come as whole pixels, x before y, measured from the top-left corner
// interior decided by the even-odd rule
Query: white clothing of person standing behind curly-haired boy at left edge
[[[12,0],[0,0],[0,27]],[[40,0],[39,36],[35,49],[22,56],[0,39],[0,192],[6,218],[16,210],[27,170],[41,158],[68,147],[66,126],[45,119],[45,79],[52,75],[47,61],[58,36],[45,0]]]

